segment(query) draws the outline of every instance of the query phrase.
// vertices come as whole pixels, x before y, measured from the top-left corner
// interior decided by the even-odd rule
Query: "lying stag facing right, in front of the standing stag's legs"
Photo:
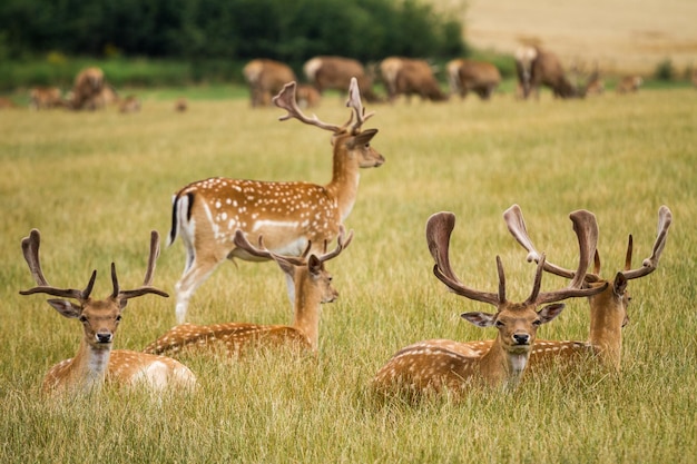
[[[324,263],[338,256],[345,249],[353,233],[344,239],[344,228],[336,238],[336,248],[323,255],[307,256],[308,245],[300,257],[281,256],[268,250],[259,237],[259,247],[245,238],[242,230],[235,234],[235,245],[263,259],[275,260],[295,285],[295,315],[293,325],[258,325],[248,323],[226,323],[199,326],[183,324],[174,327],[145,348],[145,353],[164,354],[180,351],[215,349],[224,347],[230,356],[237,356],[249,345],[294,345],[312,352],[317,351],[320,338],[320,314],[323,303],[332,303],[338,293],[332,287],[332,276]]]

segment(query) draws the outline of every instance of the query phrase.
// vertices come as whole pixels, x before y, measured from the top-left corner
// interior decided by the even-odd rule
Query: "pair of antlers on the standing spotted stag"
[[[283,89],[276,95],[272,101],[278,108],[285,109],[287,113],[278,118],[278,120],[285,121],[291,118],[295,118],[301,122],[306,125],[316,126],[321,129],[331,130],[334,134],[342,134],[346,131],[346,128],[353,121],[353,115],[355,112],[356,121],[351,127],[351,134],[356,135],[363,122],[365,122],[374,112],[370,112],[365,115],[365,109],[363,108],[363,103],[361,102],[361,92],[359,90],[359,83],[356,78],[351,78],[351,85],[348,86],[348,100],[346,101],[346,107],[352,108],[351,117],[348,121],[346,121],[343,126],[336,126],[327,122],[321,121],[316,115],[313,115],[312,118],[305,116],[301,108],[297,106],[297,100],[295,98],[295,82],[286,83]]]

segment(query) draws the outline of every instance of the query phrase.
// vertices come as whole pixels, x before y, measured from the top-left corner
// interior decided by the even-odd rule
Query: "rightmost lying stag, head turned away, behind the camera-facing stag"
[[[597,230],[596,217],[590,213],[588,213],[588,215],[592,217],[592,227]],[[507,209],[503,217],[509,231],[516,237],[518,243],[528,250],[528,260],[542,261],[542,255],[537,251],[528,235],[520,207],[518,205],[511,206]],[[592,353],[596,354],[605,365],[615,367],[617,371],[620,369],[622,327],[629,320],[627,306],[631,299],[627,292],[628,280],[647,276],[656,270],[660,255],[666,246],[668,228],[671,223],[673,214],[670,209],[668,209],[667,206],[661,206],[658,209],[658,235],[654,243],[651,256],[644,259],[641,267],[637,269],[631,269],[632,237],[629,235],[625,270],[618,272],[611,280],[600,277],[600,256],[596,248],[597,238],[593,240],[593,251],[591,251],[595,256],[593,273],[583,274],[583,287],[599,288],[605,286],[607,288],[602,293],[588,297],[590,305],[589,339],[588,342],[538,340],[533,346],[530,357],[531,366],[543,362],[554,362],[558,358]],[[580,274],[580,272],[565,269],[548,261],[544,263],[543,269],[561,277],[573,278],[575,280]]]

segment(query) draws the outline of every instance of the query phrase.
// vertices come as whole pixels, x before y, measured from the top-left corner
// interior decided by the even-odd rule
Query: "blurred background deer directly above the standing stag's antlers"
[[[380,101],[380,97],[373,92],[373,79],[359,60],[344,57],[314,57],[303,65],[303,72],[320,93],[326,89],[343,91],[351,83],[351,78],[356,78],[361,97],[369,102]]]

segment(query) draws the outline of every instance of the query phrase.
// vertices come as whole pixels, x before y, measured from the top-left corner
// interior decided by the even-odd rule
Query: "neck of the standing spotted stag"
[[[341,138],[335,140],[332,181],[325,186],[330,196],[336,200],[342,220],[346,219],[353,209],[361,180],[356,155],[350,152],[343,142]]]

